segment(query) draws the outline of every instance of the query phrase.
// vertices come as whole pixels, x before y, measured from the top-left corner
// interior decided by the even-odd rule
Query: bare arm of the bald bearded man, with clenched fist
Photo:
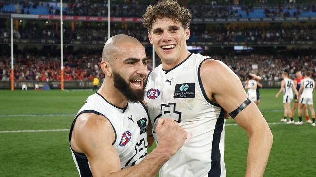
[[[139,164],[123,170],[119,155],[112,146],[114,130],[103,116],[80,115],[73,129],[71,147],[87,156],[93,177],[154,177],[182,147],[186,138],[183,128],[170,120],[159,119],[157,129],[159,145]]]

